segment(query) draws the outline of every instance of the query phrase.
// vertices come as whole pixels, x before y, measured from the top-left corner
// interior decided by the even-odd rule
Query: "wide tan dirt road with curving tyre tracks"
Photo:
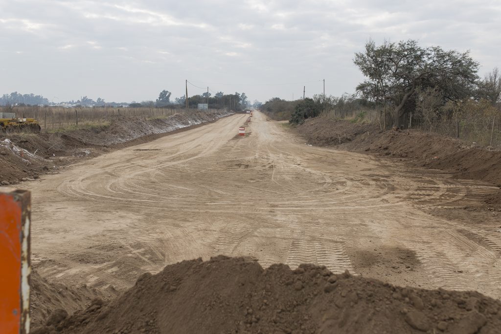
[[[224,254],[265,267],[309,262],[501,298],[496,226],[429,213],[475,205],[493,187],[311,147],[260,113],[249,136],[235,137],[246,118],[227,117],[24,184],[32,190],[39,273],[122,290],[144,271]]]

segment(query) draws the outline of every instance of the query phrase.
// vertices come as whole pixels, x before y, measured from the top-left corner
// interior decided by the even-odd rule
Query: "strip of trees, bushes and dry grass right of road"
[[[381,130],[417,128],[501,147],[501,72],[483,78],[469,52],[421,47],[416,41],[369,41],[355,54],[365,80],[341,97],[267,101],[270,118],[301,124],[311,117],[377,123]]]

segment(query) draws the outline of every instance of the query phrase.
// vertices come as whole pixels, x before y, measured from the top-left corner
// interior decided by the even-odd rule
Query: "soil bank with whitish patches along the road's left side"
[[[0,186],[57,173],[80,158],[137,145],[166,134],[214,122],[232,113],[176,114],[163,119],[114,116],[110,125],[56,133],[21,133],[0,136]],[[6,141],[7,140],[7,141]]]

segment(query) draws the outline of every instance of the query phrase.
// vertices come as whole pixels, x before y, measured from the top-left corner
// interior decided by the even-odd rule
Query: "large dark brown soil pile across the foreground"
[[[244,258],[183,261],[110,302],[58,311],[33,333],[493,334],[501,302],[477,292],[398,287],[322,266],[263,269]]]

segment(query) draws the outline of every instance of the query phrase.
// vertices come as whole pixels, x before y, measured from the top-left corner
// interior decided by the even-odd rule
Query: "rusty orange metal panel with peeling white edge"
[[[30,331],[30,192],[0,188],[0,329]]]

